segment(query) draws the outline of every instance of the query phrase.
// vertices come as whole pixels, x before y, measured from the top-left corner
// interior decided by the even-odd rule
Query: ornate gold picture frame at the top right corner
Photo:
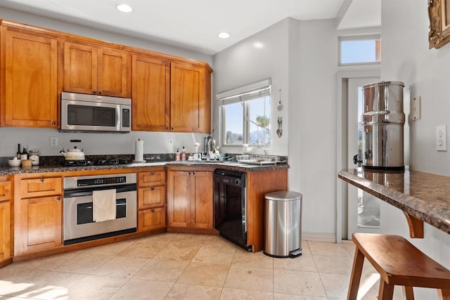
[[[431,48],[441,48],[450,41],[450,0],[428,0]]]

